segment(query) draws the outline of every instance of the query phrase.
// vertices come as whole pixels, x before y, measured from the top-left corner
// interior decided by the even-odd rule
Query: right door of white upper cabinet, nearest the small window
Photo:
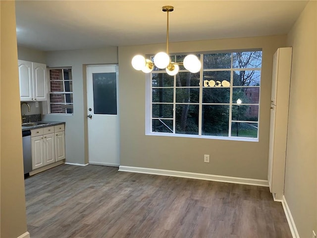
[[[46,64],[32,62],[34,100],[47,100]]]

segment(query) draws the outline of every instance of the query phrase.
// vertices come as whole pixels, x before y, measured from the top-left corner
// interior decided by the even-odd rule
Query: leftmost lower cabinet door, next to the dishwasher
[[[32,147],[32,169],[44,166],[43,135],[31,137]]]

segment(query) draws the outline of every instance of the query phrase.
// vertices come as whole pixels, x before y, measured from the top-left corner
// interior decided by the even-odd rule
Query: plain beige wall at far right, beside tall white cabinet
[[[284,196],[303,238],[317,232],[316,13],[310,1],[287,37],[293,58]]]

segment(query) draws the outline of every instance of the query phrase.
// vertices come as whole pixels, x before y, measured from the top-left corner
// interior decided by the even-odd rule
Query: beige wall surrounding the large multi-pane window
[[[285,46],[286,36],[170,43],[174,53],[263,48],[259,142],[145,135],[145,74],[131,59],[165,44],[119,47],[120,164],[267,180],[272,56]],[[204,154],[211,155],[209,164]]]

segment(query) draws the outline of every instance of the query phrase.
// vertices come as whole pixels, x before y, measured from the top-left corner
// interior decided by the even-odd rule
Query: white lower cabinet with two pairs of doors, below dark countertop
[[[31,130],[32,169],[65,159],[64,125]]]

